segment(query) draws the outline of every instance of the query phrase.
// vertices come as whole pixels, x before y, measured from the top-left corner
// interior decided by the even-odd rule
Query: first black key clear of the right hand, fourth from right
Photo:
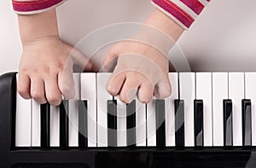
[[[184,147],[184,101],[175,100],[175,145],[176,147]]]

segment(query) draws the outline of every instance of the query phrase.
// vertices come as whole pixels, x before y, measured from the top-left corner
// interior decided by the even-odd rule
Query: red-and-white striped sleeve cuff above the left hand
[[[12,0],[13,9],[17,14],[38,14],[54,9],[65,0]]]

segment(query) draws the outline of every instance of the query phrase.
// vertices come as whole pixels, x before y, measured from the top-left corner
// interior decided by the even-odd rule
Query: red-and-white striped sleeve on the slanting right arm
[[[152,0],[157,9],[187,30],[211,0]]]

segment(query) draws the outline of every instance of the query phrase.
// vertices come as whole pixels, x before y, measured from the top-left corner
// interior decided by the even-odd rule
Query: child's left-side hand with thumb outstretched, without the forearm
[[[23,43],[18,82],[20,96],[33,98],[41,104],[49,101],[55,106],[61,103],[61,95],[73,98],[73,63],[87,65],[86,71],[93,68],[89,59],[58,36]]]

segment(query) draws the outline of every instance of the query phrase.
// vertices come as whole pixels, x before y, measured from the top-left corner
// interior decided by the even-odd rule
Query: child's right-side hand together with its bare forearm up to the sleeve
[[[142,31],[136,37],[143,38],[144,43],[136,41],[117,43],[104,61],[104,67],[109,71],[113,68],[114,60],[117,59],[113,74],[108,79],[107,90],[112,96],[119,95],[120,100],[125,103],[131,102],[135,96],[138,96],[143,103],[148,103],[153,96],[165,98],[171,95],[166,50],[172,48],[172,42],[177,41],[183,33],[183,28],[159,10],[155,10],[148,17],[145,25],[164,32],[172,39],[171,43],[165,43],[166,41],[159,38],[158,33],[152,34],[150,30]],[[155,42],[159,42],[156,45],[161,49],[154,47]]]

